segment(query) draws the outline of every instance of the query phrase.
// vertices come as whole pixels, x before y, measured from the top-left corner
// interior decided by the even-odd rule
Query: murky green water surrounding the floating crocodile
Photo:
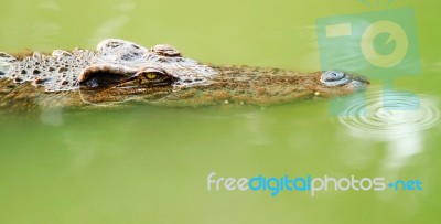
[[[398,78],[395,87],[424,94],[439,108],[441,4],[373,2],[3,0],[0,50],[94,49],[120,38],[171,43],[202,62],[316,71],[318,18],[411,7],[422,73]],[[372,132],[354,135],[330,115],[327,99],[2,118],[0,223],[440,223],[441,126],[433,121],[397,138],[364,135]],[[271,196],[269,190],[207,191],[211,172],[215,179],[418,179],[423,188]]]

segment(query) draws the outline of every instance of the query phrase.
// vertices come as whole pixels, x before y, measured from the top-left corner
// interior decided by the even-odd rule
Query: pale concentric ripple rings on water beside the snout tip
[[[358,98],[359,99],[359,98]],[[440,120],[435,100],[427,95],[375,89],[353,100],[338,120],[357,137],[391,140],[429,129]]]

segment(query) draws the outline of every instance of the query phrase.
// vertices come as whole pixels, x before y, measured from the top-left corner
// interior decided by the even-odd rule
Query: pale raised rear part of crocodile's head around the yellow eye
[[[97,55],[78,76],[86,102],[157,99],[179,88],[204,85],[216,72],[183,57],[171,45],[151,49],[108,39],[97,46]]]

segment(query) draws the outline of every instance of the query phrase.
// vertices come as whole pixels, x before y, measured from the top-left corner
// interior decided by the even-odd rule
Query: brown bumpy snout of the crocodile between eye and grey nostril
[[[310,98],[345,95],[352,85],[329,88],[320,83],[321,72],[297,73],[278,68],[250,66],[211,66],[216,72],[209,85],[194,86],[170,94],[154,104],[213,105],[252,104],[268,106]]]

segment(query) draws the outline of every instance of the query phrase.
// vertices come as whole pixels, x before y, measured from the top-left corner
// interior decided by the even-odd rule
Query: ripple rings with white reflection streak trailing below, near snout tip
[[[356,116],[341,116],[340,122],[355,137],[387,142],[379,172],[394,178],[422,152],[422,131],[440,120],[435,102],[427,95],[374,88],[352,103],[344,114]]]

